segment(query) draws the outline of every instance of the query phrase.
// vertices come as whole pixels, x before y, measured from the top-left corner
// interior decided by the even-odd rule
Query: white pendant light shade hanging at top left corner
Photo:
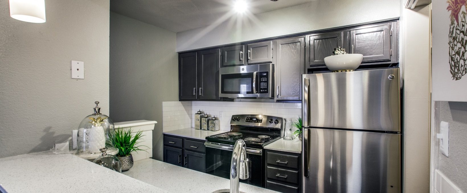
[[[16,20],[44,23],[45,0],[10,0],[10,16]]]

